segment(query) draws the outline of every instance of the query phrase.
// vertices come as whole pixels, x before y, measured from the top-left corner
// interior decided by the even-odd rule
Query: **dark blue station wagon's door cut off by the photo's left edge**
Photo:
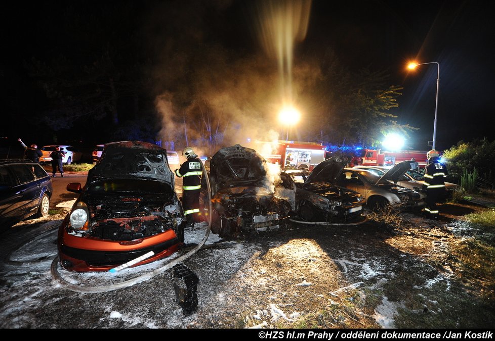
[[[8,165],[0,167],[0,227],[23,215],[22,194],[17,193],[19,182]]]

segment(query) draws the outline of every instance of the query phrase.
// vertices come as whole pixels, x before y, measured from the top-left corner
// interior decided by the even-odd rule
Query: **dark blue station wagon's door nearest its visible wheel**
[[[20,210],[26,217],[38,207],[41,186],[36,182],[32,166],[26,164],[14,164],[9,166],[16,174],[19,185],[15,188],[16,194],[20,195]]]

